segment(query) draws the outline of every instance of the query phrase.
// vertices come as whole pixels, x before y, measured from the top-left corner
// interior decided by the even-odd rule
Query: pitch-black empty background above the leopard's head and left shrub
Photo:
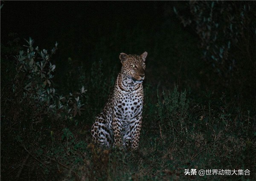
[[[32,37],[34,45],[42,49],[51,49],[57,41],[58,51],[52,60],[59,70],[55,74],[57,86],[67,80],[69,57],[76,61],[76,66],[82,64],[87,70],[93,61],[100,59],[105,62],[104,66],[119,69],[121,52],[141,54],[147,51],[148,71],[153,67],[161,70],[166,64],[173,66],[170,69],[180,69],[180,60],[172,57],[183,55],[190,59],[186,65],[200,63],[200,67],[196,34],[192,29],[183,28],[173,6],[181,7],[181,12],[186,14],[185,3],[177,1],[6,1],[1,10],[1,43],[6,44],[11,39],[10,32],[18,34],[20,44],[25,43],[23,39]],[[168,34],[168,38],[163,34]],[[186,44],[187,40],[191,44]],[[198,57],[187,57],[194,54]],[[186,65],[181,69],[187,77],[191,71]],[[179,75],[163,80],[162,77],[174,74],[171,71],[158,71],[158,74],[162,76],[152,80],[155,85],[159,84],[157,79],[166,82],[168,88],[172,87],[169,84],[180,83],[173,82]],[[148,80],[155,75],[148,74]]]

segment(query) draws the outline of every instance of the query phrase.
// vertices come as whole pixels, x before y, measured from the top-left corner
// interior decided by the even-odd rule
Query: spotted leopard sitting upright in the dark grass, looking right
[[[145,60],[141,55],[120,53],[122,63],[103,111],[91,128],[93,144],[138,150],[143,113]]]

